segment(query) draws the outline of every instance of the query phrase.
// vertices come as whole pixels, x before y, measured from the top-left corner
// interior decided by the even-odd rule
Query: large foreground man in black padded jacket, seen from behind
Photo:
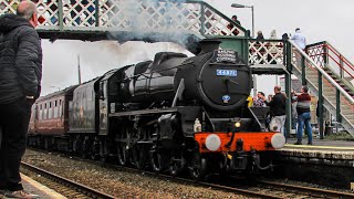
[[[21,1],[17,14],[0,18],[0,190],[8,198],[35,197],[23,190],[19,168],[31,106],[41,91],[42,49],[37,25],[37,7],[31,1]]]

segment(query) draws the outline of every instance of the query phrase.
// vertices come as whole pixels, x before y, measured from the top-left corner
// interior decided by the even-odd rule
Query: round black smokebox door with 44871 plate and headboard
[[[217,109],[241,106],[251,87],[250,69],[233,50],[215,50],[202,65],[198,80],[202,98]]]

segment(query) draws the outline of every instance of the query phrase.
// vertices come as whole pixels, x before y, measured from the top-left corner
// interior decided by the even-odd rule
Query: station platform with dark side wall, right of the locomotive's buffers
[[[296,138],[277,150],[277,175],[316,185],[354,190],[354,142],[314,137],[313,145],[294,145]]]

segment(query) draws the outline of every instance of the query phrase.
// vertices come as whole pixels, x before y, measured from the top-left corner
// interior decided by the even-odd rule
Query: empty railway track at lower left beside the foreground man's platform
[[[53,172],[34,167],[30,164],[22,161],[21,167],[21,171],[25,172],[27,175],[35,174],[35,176],[40,176],[39,179],[37,179],[38,181],[65,196],[66,198],[114,198],[113,196],[60,177]]]

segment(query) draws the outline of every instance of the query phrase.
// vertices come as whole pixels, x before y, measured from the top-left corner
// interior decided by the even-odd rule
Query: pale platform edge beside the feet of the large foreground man
[[[24,190],[39,195],[40,199],[64,199],[62,195],[58,193],[56,191],[45,187],[44,185],[31,179],[30,177],[22,175],[22,185]]]

